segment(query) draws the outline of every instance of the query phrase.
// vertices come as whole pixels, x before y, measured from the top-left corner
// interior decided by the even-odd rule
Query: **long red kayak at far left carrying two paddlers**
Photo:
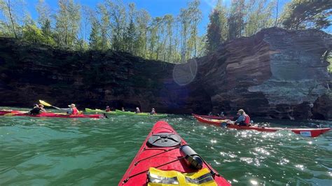
[[[28,116],[28,117],[64,117],[64,118],[76,118],[76,117],[90,117],[90,118],[103,118],[104,115],[84,115],[84,114],[79,114],[79,115],[67,115],[67,114],[62,114],[62,113],[41,113],[39,115],[31,115],[22,111],[18,110],[12,110],[12,111],[7,111],[3,110],[0,111],[0,115],[5,115],[5,116]]]

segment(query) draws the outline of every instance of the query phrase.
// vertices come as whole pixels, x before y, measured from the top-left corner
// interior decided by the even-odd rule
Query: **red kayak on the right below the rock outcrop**
[[[215,120],[215,119],[209,119],[205,117],[200,117],[198,115],[194,115],[196,120],[199,122],[204,122],[207,124],[215,124],[217,126],[222,126],[223,124],[227,125],[230,129],[237,129],[237,130],[256,130],[256,131],[266,131],[266,132],[273,132],[273,131],[281,131],[281,130],[288,130],[293,131],[293,133],[300,134],[301,136],[307,136],[307,137],[317,137],[321,134],[326,133],[326,131],[329,131],[330,128],[321,128],[321,129],[286,129],[286,128],[280,128],[280,127],[255,127],[255,126],[239,126],[237,124],[230,124],[229,120]]]

